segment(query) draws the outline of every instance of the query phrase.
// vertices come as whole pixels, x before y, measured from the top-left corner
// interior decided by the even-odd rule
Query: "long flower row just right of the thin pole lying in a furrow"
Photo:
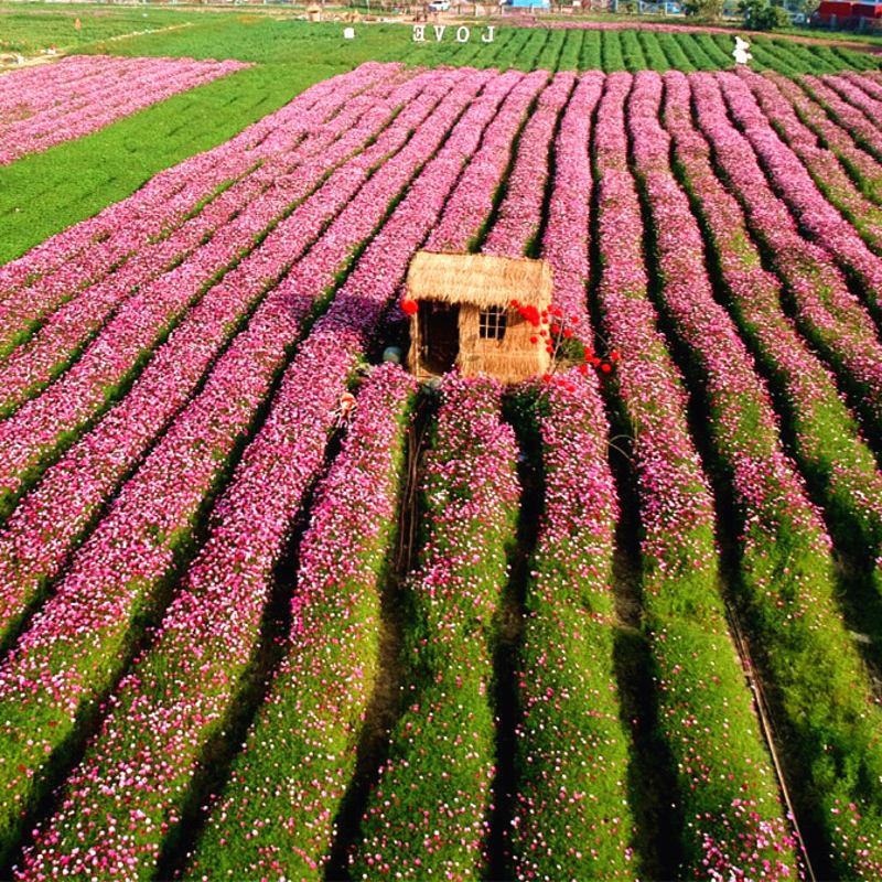
[[[752,637],[755,659],[774,695],[781,729],[799,745],[788,757],[797,798],[822,793],[811,806],[837,870],[853,874],[879,817],[878,796],[861,778],[879,767],[871,732],[882,722],[867,671],[837,602],[830,540],[806,497],[803,481],[784,456],[768,395],[751,370],[751,357],[712,297],[703,247],[688,200],[667,164],[669,143],[658,123],[660,82],[638,75],[628,122],[635,164],[656,236],[658,295],[673,333],[701,384],[710,447],[722,465],[738,518],[740,578],[735,595]],[[810,697],[824,681],[824,697]],[[804,689],[809,691],[804,693]],[[803,710],[813,702],[811,722]],[[824,734],[821,734],[824,733]],[[817,741],[826,746],[815,746]],[[829,757],[853,764],[852,775],[831,781]],[[848,757],[848,760],[846,759]],[[803,782],[810,782],[808,787]],[[851,803],[868,842],[842,841],[830,808]]]

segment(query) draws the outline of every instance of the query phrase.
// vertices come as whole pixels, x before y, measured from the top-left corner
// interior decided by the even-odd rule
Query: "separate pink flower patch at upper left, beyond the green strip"
[[[17,71],[0,80],[0,165],[245,66],[236,61],[74,55]]]

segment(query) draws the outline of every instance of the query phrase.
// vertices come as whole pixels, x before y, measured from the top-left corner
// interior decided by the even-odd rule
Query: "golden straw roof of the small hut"
[[[411,300],[476,306],[507,306],[518,300],[545,309],[551,288],[551,267],[527,258],[418,251],[407,273]]]

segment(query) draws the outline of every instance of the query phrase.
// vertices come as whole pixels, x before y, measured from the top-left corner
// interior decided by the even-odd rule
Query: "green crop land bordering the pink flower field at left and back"
[[[82,20],[80,31],[73,28],[75,14]],[[731,37],[723,34],[498,26],[494,43],[481,44],[482,24],[475,23],[469,44],[455,43],[450,33],[435,42],[431,31],[426,43],[417,44],[410,29],[395,24],[359,25],[357,39],[346,41],[340,24],[288,17],[155,8],[147,14],[144,19],[140,10],[116,8],[100,13],[92,7],[47,13],[0,7],[0,32],[23,51],[35,52],[54,42],[86,53],[238,58],[256,64],[77,141],[0,166],[0,263],[125,198],[162,169],[223,143],[313,83],[368,60],[501,69],[637,71],[649,66],[660,71],[673,66],[689,71],[732,65]],[[108,40],[144,26],[157,32]],[[879,66],[872,56],[848,50],[806,45],[797,55],[778,42],[764,44],[755,57],[754,67],[787,74]],[[190,125],[182,126],[182,119]]]

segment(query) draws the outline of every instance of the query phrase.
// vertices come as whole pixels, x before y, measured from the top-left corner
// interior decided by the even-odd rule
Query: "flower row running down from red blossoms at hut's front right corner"
[[[509,878],[633,879],[632,745],[614,665],[619,504],[593,380],[566,379],[523,402],[538,423],[528,449],[541,458],[545,506],[517,650]]]

